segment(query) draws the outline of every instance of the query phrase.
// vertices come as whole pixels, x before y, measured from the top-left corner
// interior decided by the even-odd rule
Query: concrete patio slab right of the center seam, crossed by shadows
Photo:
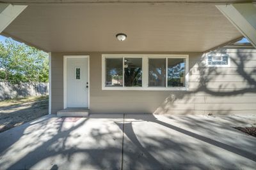
[[[256,139],[227,121],[235,122],[204,115],[125,115],[123,169],[255,169]]]

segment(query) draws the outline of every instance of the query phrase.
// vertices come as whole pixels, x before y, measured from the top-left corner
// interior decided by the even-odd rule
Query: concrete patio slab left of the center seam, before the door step
[[[121,169],[123,115],[45,116],[0,134],[0,169]]]

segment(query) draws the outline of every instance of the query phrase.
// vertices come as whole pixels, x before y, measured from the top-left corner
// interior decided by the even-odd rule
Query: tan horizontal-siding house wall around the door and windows
[[[203,53],[182,53],[189,55],[188,91],[102,90],[101,55],[107,52],[52,52],[52,113],[63,109],[63,55],[90,55],[90,113],[256,113],[256,50],[215,52],[228,53],[231,66],[205,67]]]

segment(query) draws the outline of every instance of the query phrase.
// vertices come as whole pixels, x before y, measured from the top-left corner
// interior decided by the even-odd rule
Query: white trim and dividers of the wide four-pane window
[[[124,57],[136,57],[142,58],[142,87],[105,87],[105,80],[106,80],[106,58],[108,59],[115,59],[115,58],[123,58]],[[148,87],[148,59],[166,59],[166,87]],[[167,87],[167,59],[185,59],[186,61],[186,87]],[[172,54],[172,55],[164,55],[164,54],[102,54],[102,90],[188,90],[189,88],[189,55],[183,54]],[[124,61],[123,61],[124,65]],[[123,66],[124,69],[124,66]],[[124,83],[124,70],[123,70],[123,83]]]

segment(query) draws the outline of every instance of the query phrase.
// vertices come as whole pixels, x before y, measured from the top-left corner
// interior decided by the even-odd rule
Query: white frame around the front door
[[[64,55],[63,56],[63,109],[67,108],[67,59],[86,58],[88,59],[88,109],[90,109],[90,55]]]

